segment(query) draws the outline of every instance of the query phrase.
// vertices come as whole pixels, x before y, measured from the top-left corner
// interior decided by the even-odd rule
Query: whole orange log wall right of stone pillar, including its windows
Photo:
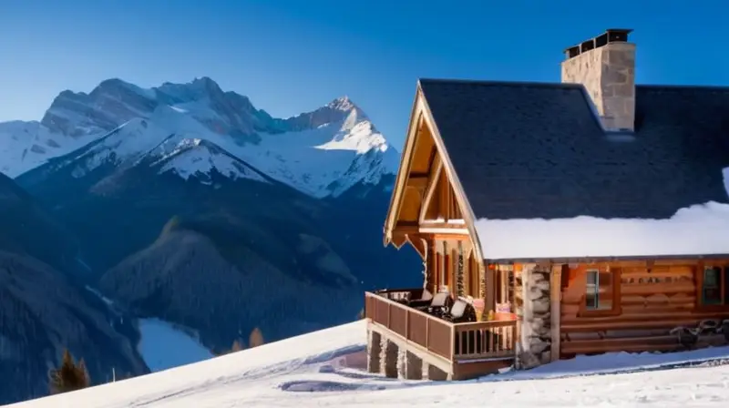
[[[673,328],[729,319],[728,265],[727,260],[562,265],[560,357],[679,350],[669,333]]]

